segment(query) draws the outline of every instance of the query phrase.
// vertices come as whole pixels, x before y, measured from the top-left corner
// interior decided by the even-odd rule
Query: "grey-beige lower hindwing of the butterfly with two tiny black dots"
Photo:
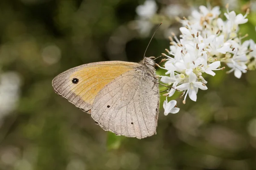
[[[94,99],[92,117],[105,129],[138,139],[156,133],[159,89],[140,69],[128,71],[106,85]]]

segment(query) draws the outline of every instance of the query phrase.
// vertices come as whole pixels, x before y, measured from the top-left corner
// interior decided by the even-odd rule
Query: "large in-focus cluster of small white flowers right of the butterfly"
[[[186,98],[197,100],[198,89],[207,90],[207,81],[204,75],[215,75],[218,70],[227,73],[234,72],[240,78],[242,73],[252,70],[256,65],[256,44],[253,40],[242,42],[244,37],[239,36],[239,25],[247,23],[247,10],[245,15],[236,14],[235,11],[224,13],[225,20],[220,18],[220,8],[200,6],[199,11],[192,11],[188,19],[180,20],[180,39],[175,34],[170,38],[167,59],[164,67],[166,76],[160,76],[161,82],[170,87],[164,102],[165,115],[177,113],[176,102],[168,102],[175,91],[183,91],[183,104]],[[175,105],[173,105],[175,103]],[[168,106],[168,107],[167,107]]]

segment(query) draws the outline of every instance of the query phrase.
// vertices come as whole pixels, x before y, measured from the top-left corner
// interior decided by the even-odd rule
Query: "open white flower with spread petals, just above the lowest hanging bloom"
[[[186,91],[184,101],[186,101],[187,94],[189,94],[189,98],[191,100],[196,101],[197,99],[196,94],[198,92],[198,88],[200,88],[201,90],[207,90],[207,87],[205,84],[203,84],[202,82],[196,82],[196,80],[197,80],[196,75],[190,74],[189,82],[176,87],[176,89],[179,91]]]

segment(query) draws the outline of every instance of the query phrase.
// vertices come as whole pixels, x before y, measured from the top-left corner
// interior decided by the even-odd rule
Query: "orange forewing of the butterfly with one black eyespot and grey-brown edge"
[[[135,62],[94,62],[70,68],[52,80],[55,92],[83,111],[91,110],[95,96],[108,83],[140,64]]]

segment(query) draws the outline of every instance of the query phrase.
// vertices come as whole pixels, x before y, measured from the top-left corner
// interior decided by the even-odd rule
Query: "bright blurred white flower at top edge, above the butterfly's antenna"
[[[143,5],[137,6],[136,12],[140,17],[151,18],[157,11],[154,0],[146,0]]]

